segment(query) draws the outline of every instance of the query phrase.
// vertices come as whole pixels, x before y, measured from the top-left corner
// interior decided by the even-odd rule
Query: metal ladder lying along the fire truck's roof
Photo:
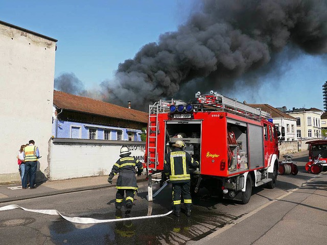
[[[213,106],[221,109],[222,111],[232,112],[255,120],[270,118],[270,114],[268,112],[247,106],[235,99],[230,99],[217,92],[214,92],[213,90],[210,91],[210,94],[201,94],[200,92],[197,92],[195,97],[199,103]]]

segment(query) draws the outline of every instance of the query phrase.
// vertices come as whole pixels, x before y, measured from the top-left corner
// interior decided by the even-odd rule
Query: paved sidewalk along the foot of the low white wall
[[[137,182],[145,181],[145,177],[146,176],[136,177]],[[36,189],[21,189],[21,185],[19,184],[0,186],[0,203],[89,189],[106,188],[110,186],[114,188],[116,178],[112,180],[112,184],[109,184],[107,180],[108,176],[95,176],[69,180],[47,181],[37,183]]]

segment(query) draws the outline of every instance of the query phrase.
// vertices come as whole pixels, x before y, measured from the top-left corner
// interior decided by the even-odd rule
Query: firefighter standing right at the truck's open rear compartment
[[[186,216],[191,216],[192,198],[190,194],[190,167],[197,167],[199,162],[195,161],[189,153],[182,150],[184,147],[184,142],[182,140],[177,140],[172,146],[172,151],[165,156],[164,171],[165,175],[169,176],[173,186],[174,215],[177,217],[180,216],[182,195]]]

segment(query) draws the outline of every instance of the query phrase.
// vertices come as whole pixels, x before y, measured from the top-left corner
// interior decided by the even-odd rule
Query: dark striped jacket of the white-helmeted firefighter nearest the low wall
[[[137,190],[135,167],[137,167],[138,170],[141,170],[143,169],[143,164],[135,157],[130,157],[129,155],[130,153],[121,155],[122,157],[113,164],[111,169],[111,176],[119,174],[116,183],[117,189]]]

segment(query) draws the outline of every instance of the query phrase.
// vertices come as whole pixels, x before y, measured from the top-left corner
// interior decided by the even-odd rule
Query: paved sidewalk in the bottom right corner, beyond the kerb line
[[[327,171],[312,178],[222,229],[214,229],[199,241],[187,244],[326,244]]]

